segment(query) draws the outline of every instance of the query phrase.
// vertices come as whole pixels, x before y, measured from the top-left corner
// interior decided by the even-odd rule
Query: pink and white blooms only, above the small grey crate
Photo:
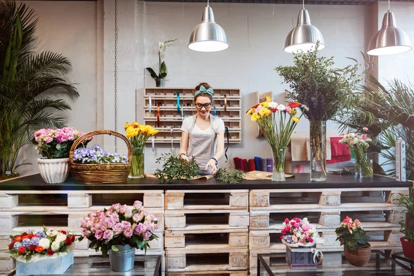
[[[289,220],[286,218],[282,224],[282,243],[290,247],[313,246],[322,242],[321,237],[316,231],[316,227],[309,223],[308,219],[294,217]]]

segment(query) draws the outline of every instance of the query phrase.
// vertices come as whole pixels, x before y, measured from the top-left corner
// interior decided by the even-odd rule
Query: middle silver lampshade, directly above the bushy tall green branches
[[[319,49],[325,48],[322,32],[311,24],[311,17],[308,11],[303,8],[297,17],[297,26],[293,28],[285,41],[285,52],[299,52],[315,48],[319,41]]]

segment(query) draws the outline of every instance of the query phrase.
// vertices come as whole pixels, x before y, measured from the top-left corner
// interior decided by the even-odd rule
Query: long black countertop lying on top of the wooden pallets
[[[39,174],[28,175],[7,181],[0,181],[0,192],[7,190],[229,190],[229,189],[323,189],[323,188],[393,188],[413,187],[413,183],[395,181],[393,178],[375,175],[373,179],[359,179],[355,175],[328,174],[326,182],[311,182],[308,173],[295,174],[285,182],[270,180],[244,180],[239,184],[226,184],[215,179],[179,180],[172,184],[161,184],[158,179],[128,179],[120,184],[79,184],[75,179],[68,178],[61,184],[46,184]]]

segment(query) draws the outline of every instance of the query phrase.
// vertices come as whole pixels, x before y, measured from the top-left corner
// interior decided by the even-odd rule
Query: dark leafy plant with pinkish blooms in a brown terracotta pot
[[[344,246],[345,257],[353,266],[365,266],[371,258],[371,244],[369,236],[359,219],[354,221],[346,217],[341,225],[335,229],[337,239]]]

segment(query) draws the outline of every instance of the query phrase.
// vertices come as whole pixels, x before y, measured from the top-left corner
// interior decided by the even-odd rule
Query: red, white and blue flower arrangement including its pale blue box
[[[9,253],[16,275],[63,274],[73,264],[75,234],[67,230],[28,230],[12,235]]]

